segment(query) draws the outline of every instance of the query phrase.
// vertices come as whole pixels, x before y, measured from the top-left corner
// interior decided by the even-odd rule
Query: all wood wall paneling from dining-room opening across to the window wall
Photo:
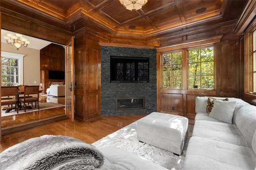
[[[4,4],[8,6],[9,4]],[[11,9],[11,7],[10,7]],[[196,96],[240,97],[244,93],[244,77],[246,68],[241,67],[243,59],[243,40],[234,34],[236,20],[224,18],[222,21],[208,22],[198,26],[177,28],[168,34],[154,34],[150,37],[125,37],[109,32],[96,32],[86,28],[82,19],[72,23],[69,28],[66,23],[54,18],[40,16],[35,20],[29,11],[2,10],[2,28],[21,34],[42,38],[52,42],[66,44],[72,35],[76,42],[76,118],[88,120],[100,116],[100,45],[98,42],[124,43],[131,45],[158,46],[157,50],[157,110],[189,118],[194,122]],[[26,14],[26,15],[25,15]],[[40,14],[38,14],[40,15]],[[82,23],[82,24],[81,24]],[[76,30],[72,30],[76,28]],[[71,30],[71,31],[70,31]],[[106,34],[105,34],[106,33]],[[114,36],[113,36],[114,35]],[[219,42],[214,39],[222,36]],[[191,46],[214,43],[215,78],[214,90],[162,89],[161,52],[171,49],[183,49]],[[186,71],[186,70],[185,70]],[[186,77],[183,77],[186,82]],[[246,94],[245,94],[246,95]],[[247,96],[247,95],[246,95]],[[254,97],[247,97],[255,100]],[[173,110],[174,107],[174,110]]]

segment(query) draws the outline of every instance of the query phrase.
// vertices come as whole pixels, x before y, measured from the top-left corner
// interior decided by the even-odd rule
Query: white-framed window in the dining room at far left
[[[1,52],[2,58],[2,85],[16,85],[23,83],[23,56],[22,54]]]

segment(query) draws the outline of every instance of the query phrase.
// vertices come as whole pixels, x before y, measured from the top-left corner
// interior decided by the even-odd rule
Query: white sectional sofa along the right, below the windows
[[[256,106],[236,98],[213,98],[218,100],[196,97],[184,170],[256,170]]]

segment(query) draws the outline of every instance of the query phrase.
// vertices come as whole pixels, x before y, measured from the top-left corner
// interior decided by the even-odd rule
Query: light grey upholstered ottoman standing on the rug
[[[153,112],[138,120],[137,137],[145,142],[180,155],[188,136],[188,118]]]

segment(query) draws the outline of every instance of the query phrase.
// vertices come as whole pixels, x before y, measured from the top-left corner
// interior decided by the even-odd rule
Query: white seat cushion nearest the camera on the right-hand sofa
[[[188,143],[184,170],[249,170],[256,167],[252,148],[192,136]]]

